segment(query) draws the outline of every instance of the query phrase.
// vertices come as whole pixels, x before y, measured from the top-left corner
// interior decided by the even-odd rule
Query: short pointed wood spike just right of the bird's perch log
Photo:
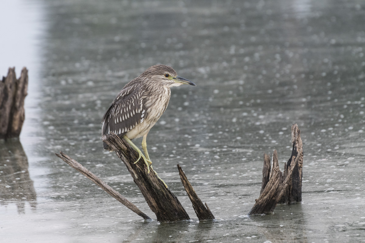
[[[193,204],[193,208],[194,208],[194,211],[195,211],[198,219],[199,220],[215,219],[215,217],[214,217],[213,213],[210,211],[207,203],[205,203],[205,206],[204,206],[203,202],[200,200],[198,195],[196,195],[194,188],[188,181],[188,178],[186,177],[183,169],[181,169],[180,165],[177,165],[177,168],[179,170],[181,182],[184,185],[185,191],[188,193],[189,199]]]

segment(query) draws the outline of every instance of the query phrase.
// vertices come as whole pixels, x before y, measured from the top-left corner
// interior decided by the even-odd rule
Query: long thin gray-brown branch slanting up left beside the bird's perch
[[[76,160],[73,160],[71,157],[69,157],[67,154],[63,153],[62,151],[60,152],[60,154],[55,153],[55,155],[58,156],[59,158],[61,158],[63,161],[65,161],[72,168],[76,169],[76,171],[80,172],[82,175],[86,176],[88,179],[93,181],[93,183],[95,183],[96,185],[101,187],[104,191],[109,193],[112,197],[114,197],[120,203],[125,205],[127,208],[131,209],[133,212],[135,212],[139,216],[143,217],[143,219],[151,220],[151,218],[149,216],[147,216],[145,213],[143,213],[141,210],[139,210],[139,208],[137,208],[136,205],[134,205],[133,203],[128,201],[128,199],[123,197],[119,192],[115,191],[108,184],[106,184],[104,181],[102,181],[99,177],[94,175],[91,171],[89,171],[87,168],[82,166]]]

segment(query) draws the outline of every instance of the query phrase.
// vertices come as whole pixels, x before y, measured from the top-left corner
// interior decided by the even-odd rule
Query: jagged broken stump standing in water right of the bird
[[[276,150],[273,153],[272,165],[270,157],[264,154],[261,193],[249,215],[272,213],[277,203],[301,201],[303,143],[296,124],[292,125],[292,145],[292,155],[288,164],[284,165],[284,175],[279,169]]]

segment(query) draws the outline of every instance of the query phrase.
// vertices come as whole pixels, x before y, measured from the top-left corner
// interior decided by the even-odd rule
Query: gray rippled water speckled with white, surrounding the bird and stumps
[[[31,50],[19,54],[30,92],[20,142],[0,142],[4,242],[365,241],[363,1],[14,3],[7,14],[29,34],[20,23],[19,43],[7,45]],[[147,138],[154,169],[192,222],[142,222],[54,156],[69,154],[154,218],[100,135],[119,90],[158,63],[197,84],[172,89]],[[12,64],[0,64],[5,75]],[[294,123],[304,146],[303,202],[246,217],[260,193],[263,153],[277,149],[283,169]],[[215,222],[197,222],[176,164]]]

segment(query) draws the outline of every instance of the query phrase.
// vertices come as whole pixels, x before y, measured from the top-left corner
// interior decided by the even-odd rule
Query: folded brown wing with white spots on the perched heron
[[[124,87],[104,114],[102,134],[115,133],[120,138],[146,117],[141,83]],[[103,147],[109,149],[103,142]]]

